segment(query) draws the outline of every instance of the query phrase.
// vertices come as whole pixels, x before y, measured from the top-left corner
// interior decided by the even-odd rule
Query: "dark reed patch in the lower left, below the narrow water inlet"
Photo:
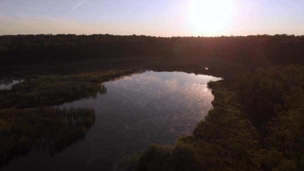
[[[88,108],[26,108],[0,110],[0,165],[31,149],[51,155],[84,138],[95,122]]]

